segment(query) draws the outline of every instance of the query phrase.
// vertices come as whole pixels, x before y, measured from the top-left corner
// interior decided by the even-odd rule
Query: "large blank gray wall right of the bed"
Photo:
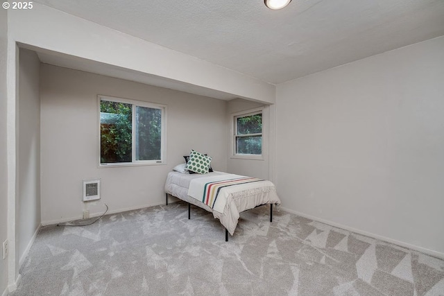
[[[278,85],[282,206],[444,256],[444,37]]]

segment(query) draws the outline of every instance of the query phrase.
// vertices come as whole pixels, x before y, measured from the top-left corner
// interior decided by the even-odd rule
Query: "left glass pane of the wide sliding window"
[[[101,163],[131,162],[131,104],[100,101]]]

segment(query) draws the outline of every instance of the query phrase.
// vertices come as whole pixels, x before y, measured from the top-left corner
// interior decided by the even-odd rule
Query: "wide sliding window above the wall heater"
[[[166,106],[99,96],[100,164],[164,162]]]

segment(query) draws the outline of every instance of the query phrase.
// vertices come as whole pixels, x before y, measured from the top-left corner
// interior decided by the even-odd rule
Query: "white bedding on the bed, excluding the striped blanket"
[[[176,198],[185,200],[191,204],[195,204],[207,211],[210,211],[214,218],[218,218],[221,224],[228,230],[232,235],[234,229],[237,227],[237,222],[239,220],[239,213],[246,211],[248,209],[253,209],[261,204],[280,204],[280,199],[275,190],[268,192],[260,192],[255,194],[246,194],[245,192],[233,193],[228,195],[227,202],[221,213],[218,211],[213,211],[211,207],[207,204],[196,200],[196,198],[191,198],[188,195],[189,183],[191,180],[201,177],[210,177],[216,175],[226,175],[223,172],[213,172],[205,175],[200,174],[182,174],[178,172],[170,172],[167,176],[167,182],[165,182],[165,192],[169,193]]]

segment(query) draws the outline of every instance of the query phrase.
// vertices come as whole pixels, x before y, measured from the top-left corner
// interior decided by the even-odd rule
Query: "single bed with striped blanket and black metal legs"
[[[190,191],[191,195],[197,194],[198,197],[189,195]],[[202,192],[208,193],[206,197],[200,195]],[[272,182],[218,171],[205,175],[172,171],[168,173],[165,182],[165,193],[166,204],[168,204],[168,195],[188,202],[188,218],[190,218],[190,204],[210,211],[225,227],[225,241],[228,241],[228,233],[234,234],[242,211],[270,204],[270,222],[272,222],[273,204],[280,204]]]

